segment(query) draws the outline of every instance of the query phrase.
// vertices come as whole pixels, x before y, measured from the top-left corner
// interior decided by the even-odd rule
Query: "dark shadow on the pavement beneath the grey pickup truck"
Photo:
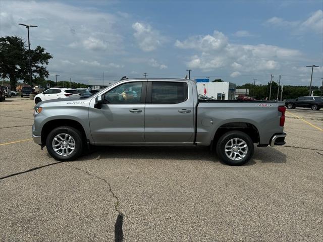
[[[159,159],[159,160],[196,160],[221,162],[215,151],[208,147],[156,147],[156,146],[97,146],[90,154],[76,161],[95,159]],[[245,165],[261,163],[285,163],[286,155],[277,149],[255,147],[253,158]]]

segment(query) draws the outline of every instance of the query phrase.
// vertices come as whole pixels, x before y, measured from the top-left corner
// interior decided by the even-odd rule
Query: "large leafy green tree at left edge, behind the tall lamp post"
[[[44,79],[49,76],[45,65],[52,55],[45,52],[41,46],[30,51],[31,69],[33,79]],[[18,80],[29,83],[29,60],[26,41],[18,36],[6,36],[0,38],[0,77],[9,78],[12,90],[16,90]]]

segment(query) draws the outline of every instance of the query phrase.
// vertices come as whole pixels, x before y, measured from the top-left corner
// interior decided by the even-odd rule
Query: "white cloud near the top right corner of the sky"
[[[294,34],[305,32],[323,33],[323,11],[317,10],[305,21],[287,21],[279,17],[273,17],[265,22],[265,25],[274,27],[290,28]]]

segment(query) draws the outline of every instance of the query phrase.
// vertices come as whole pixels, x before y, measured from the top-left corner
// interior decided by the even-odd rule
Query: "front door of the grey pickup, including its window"
[[[96,144],[144,142],[146,84],[123,82],[102,95],[101,108],[95,108],[92,99],[89,123]]]

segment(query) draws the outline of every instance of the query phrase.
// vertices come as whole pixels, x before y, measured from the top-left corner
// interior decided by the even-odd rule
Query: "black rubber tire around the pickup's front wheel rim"
[[[71,136],[75,141],[74,151],[71,152],[71,154],[69,155],[66,155],[66,156],[60,155],[56,153],[52,147],[52,142],[54,138],[60,134],[67,134]],[[59,161],[72,161],[77,159],[82,154],[83,147],[84,147],[84,142],[82,139],[81,132],[69,126],[61,126],[53,129],[46,138],[46,148],[49,155],[52,158]]]

